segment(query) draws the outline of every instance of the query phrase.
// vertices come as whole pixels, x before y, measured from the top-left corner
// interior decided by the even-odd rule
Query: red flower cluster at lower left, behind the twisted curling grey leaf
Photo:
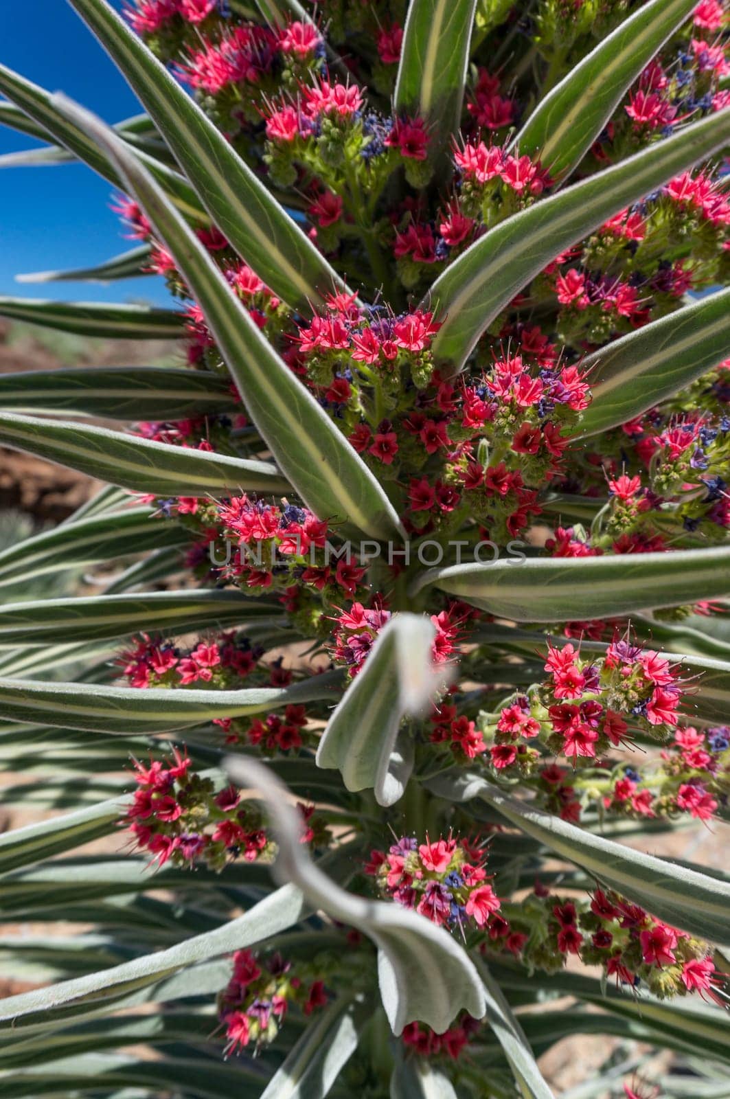
[[[215,789],[212,778],[190,771],[190,759],[174,750],[174,758],[134,762],[137,788],[123,824],[135,846],[147,851],[158,866],[206,864],[221,870],[242,857],[248,863],[269,862],[274,844],[258,809],[244,802],[234,787]],[[302,843],[329,843],[327,824],[313,807],[299,806],[306,830]]]

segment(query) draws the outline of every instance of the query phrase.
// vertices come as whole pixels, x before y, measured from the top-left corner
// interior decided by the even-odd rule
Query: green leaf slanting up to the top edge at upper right
[[[624,93],[684,22],[694,0],[651,0],[624,20],[538,104],[515,138],[555,180],[579,164]]]

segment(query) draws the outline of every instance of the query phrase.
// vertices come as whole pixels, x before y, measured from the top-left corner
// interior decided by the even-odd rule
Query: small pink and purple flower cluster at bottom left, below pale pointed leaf
[[[328,995],[321,980],[306,984],[298,969],[280,954],[266,957],[236,951],[233,974],[218,998],[218,1018],[225,1030],[225,1052],[246,1046],[270,1045],[291,1008],[305,1015],[325,1007]]]

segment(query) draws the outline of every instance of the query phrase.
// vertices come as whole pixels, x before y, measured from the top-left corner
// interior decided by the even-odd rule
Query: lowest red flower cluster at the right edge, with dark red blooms
[[[661,999],[689,992],[718,996],[720,977],[707,943],[610,890],[597,888],[588,902],[557,897],[538,885],[523,901],[504,906],[500,919],[521,934],[519,954],[531,968],[553,973],[575,955],[585,965],[600,966],[617,984],[645,987]],[[504,934],[506,929],[499,930]],[[499,945],[490,930],[485,951]]]

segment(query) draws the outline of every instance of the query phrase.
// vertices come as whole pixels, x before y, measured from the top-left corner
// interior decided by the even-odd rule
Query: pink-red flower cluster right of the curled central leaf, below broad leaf
[[[571,642],[560,647],[549,643],[544,668],[544,684],[516,695],[498,714],[482,715],[498,770],[529,774],[539,757],[530,741],[567,756],[575,766],[630,740],[634,731],[663,737],[677,724],[682,681],[653,650],[622,639],[591,658],[582,657]]]

